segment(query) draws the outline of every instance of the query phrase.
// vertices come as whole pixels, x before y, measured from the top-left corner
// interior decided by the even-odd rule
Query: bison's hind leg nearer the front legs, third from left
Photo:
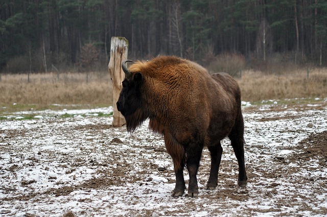
[[[206,189],[213,190],[217,187],[218,184],[218,171],[223,148],[221,147],[221,143],[219,141],[215,146],[209,146],[208,150],[211,154],[211,169],[209,180],[206,184]]]

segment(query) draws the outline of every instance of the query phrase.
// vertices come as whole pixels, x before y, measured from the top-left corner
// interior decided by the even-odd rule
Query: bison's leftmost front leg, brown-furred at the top
[[[181,144],[168,132],[164,134],[166,150],[173,159],[174,171],[176,176],[175,189],[172,192],[173,197],[180,197],[184,194],[185,181],[183,176],[184,162],[185,162],[185,151]]]

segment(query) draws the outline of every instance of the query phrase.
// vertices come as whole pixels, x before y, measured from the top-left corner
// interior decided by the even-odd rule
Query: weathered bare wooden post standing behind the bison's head
[[[113,122],[114,127],[126,124],[124,116],[117,110],[116,102],[122,89],[125,73],[122,69],[122,61],[127,59],[128,40],[124,37],[111,37],[110,61],[108,64],[109,75],[112,80],[113,92]]]

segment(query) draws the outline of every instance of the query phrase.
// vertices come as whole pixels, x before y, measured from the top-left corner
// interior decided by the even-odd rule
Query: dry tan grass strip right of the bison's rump
[[[243,101],[269,99],[326,98],[327,69],[297,70],[288,75],[263,75],[260,71],[245,71],[238,79]]]

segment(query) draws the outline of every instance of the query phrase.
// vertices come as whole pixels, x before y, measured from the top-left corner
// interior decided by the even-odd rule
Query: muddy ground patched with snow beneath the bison
[[[215,190],[203,151],[197,198],[170,196],[172,161],[147,123],[129,134],[95,115],[1,120],[0,215],[326,216],[326,111],[326,101],[244,107],[247,187],[224,140]]]

